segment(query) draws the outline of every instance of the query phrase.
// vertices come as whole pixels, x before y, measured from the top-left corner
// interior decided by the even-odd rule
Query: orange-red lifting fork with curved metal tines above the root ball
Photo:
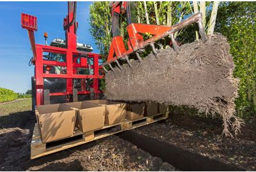
[[[111,6],[111,15],[112,15],[112,20],[115,17],[116,14],[123,14],[127,13],[127,21],[129,21],[129,18],[131,18],[131,13],[130,13],[130,7],[129,7],[129,2],[126,1],[116,1],[110,4]],[[128,8],[127,8],[128,7]],[[204,25],[202,24],[202,13],[196,13],[195,15],[187,18],[186,20],[180,22],[179,24],[176,25],[150,25],[150,24],[136,24],[132,23],[131,20],[128,22],[127,25],[127,32],[129,39],[127,41],[127,47],[128,50],[126,50],[125,45],[124,45],[124,38],[120,35],[115,35],[113,36],[113,39],[111,41],[111,45],[109,48],[109,54],[108,54],[108,59],[104,64],[102,64],[103,68],[106,65],[109,65],[109,68],[111,68],[112,71],[114,71],[113,66],[111,66],[112,62],[115,62],[117,64],[117,67],[122,69],[118,59],[124,59],[127,61],[130,67],[131,63],[129,62],[128,55],[132,53],[136,53],[136,57],[138,58],[139,61],[141,61],[141,57],[139,53],[143,51],[143,49],[150,45],[152,47],[152,52],[157,56],[157,50],[154,47],[154,43],[162,39],[166,36],[170,36],[172,40],[172,45],[175,50],[179,49],[179,45],[175,41],[175,38],[173,34],[180,29],[191,25],[193,23],[197,23],[199,27],[199,33],[203,41],[205,41],[206,34],[204,30]],[[113,27],[116,27],[116,25],[112,24],[112,32],[113,32]],[[142,34],[150,34],[152,35],[151,38],[144,40]],[[106,68],[104,68],[104,71],[108,72]]]

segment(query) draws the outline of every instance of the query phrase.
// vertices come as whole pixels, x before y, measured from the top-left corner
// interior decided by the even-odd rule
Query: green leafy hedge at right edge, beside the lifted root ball
[[[234,76],[240,79],[236,99],[240,117],[255,116],[256,112],[256,3],[223,2],[216,20],[216,30],[227,36],[236,68]]]

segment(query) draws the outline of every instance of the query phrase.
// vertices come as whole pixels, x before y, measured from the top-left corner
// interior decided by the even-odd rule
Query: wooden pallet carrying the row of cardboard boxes
[[[87,133],[82,133],[81,131],[76,130],[72,137],[52,141],[50,143],[42,143],[38,124],[36,123],[31,141],[31,159],[49,155],[54,152],[59,152],[67,148],[76,147],[78,145],[83,145],[84,143],[88,143],[90,141],[99,140],[100,138],[105,138],[125,130],[134,129],[136,127],[142,127],[166,118],[168,118],[167,113],[159,113],[151,117],[141,118],[140,120],[125,120],[125,122],[121,122],[119,124],[105,125],[102,129],[97,129]]]

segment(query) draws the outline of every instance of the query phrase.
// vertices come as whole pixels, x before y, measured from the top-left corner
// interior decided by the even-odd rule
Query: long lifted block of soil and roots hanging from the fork
[[[239,80],[233,77],[234,62],[227,39],[221,34],[174,50],[158,51],[143,62],[132,61],[122,71],[106,74],[105,96],[115,101],[156,101],[196,108],[199,113],[220,114],[223,134],[237,134],[241,120],[234,116]]]

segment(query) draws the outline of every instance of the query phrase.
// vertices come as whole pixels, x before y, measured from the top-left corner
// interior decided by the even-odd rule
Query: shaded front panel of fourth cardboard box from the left
[[[126,116],[127,120],[139,120],[144,117],[145,103],[129,103],[127,104]]]

